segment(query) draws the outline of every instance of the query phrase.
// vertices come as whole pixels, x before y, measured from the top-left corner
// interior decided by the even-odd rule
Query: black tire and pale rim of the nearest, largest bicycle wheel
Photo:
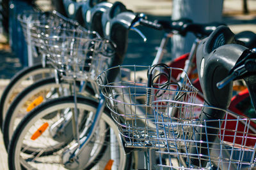
[[[77,106],[78,106],[79,110],[84,109],[86,111],[93,112],[93,111],[97,110],[97,104],[98,103],[96,101],[86,99],[85,97],[77,97]],[[39,119],[40,117],[41,118],[44,117],[45,115],[47,115],[47,113],[49,113],[51,111],[54,111],[54,110],[56,111],[59,108],[67,108],[67,107],[71,107],[71,106],[74,106],[74,96],[66,96],[66,97],[52,99],[52,100],[46,101],[45,103],[36,107],[35,110],[31,111],[28,115],[26,115],[26,117],[24,117],[22,119],[19,126],[17,127],[17,129],[19,129],[19,130],[16,130],[14,132],[13,138],[12,138],[12,140],[10,142],[10,146],[8,148],[8,153],[9,153],[8,154],[8,160],[9,160],[8,165],[9,165],[10,169],[24,168],[24,164],[21,165],[21,163],[20,163],[19,153],[20,153],[20,149],[22,149],[22,145],[23,145],[20,140],[22,140],[22,138],[24,138],[26,132],[28,132],[29,127],[31,127],[31,124],[33,124],[33,122],[35,122],[35,120]],[[104,109],[104,113],[100,120],[104,121],[109,127],[111,127],[111,129],[113,129],[113,131],[115,132],[116,140],[118,140],[117,141],[117,144],[118,144],[117,148],[119,149],[118,155],[120,157],[122,157],[122,160],[120,160],[120,162],[114,162],[114,163],[116,165],[118,165],[119,167],[122,167],[122,168],[118,167],[118,169],[129,169],[131,166],[131,156],[129,155],[129,156],[125,157],[124,149],[122,148],[123,147],[122,142],[119,140],[120,138],[118,138],[118,128],[116,127],[115,122],[111,118],[109,110],[107,110],[106,108]],[[109,129],[108,129],[108,131],[109,131]],[[106,134],[106,133],[103,133],[103,134]],[[109,146],[109,144],[111,144],[111,143],[106,143],[106,144],[107,145],[102,145],[102,146]],[[41,152],[42,152],[42,150],[41,150]],[[104,149],[104,152],[106,152],[106,148]],[[101,149],[100,149],[99,153],[102,153]],[[107,152],[104,154],[108,155]],[[93,160],[89,161],[90,163],[88,163],[89,165],[87,166],[86,169],[88,169],[88,168],[90,169],[95,164],[99,164],[100,163],[99,160],[103,161],[104,154],[94,155],[94,157],[92,157],[92,159],[97,160],[97,162],[93,162]],[[109,155],[108,155],[108,157],[109,157]],[[44,164],[44,165],[46,165],[46,164]],[[51,162],[51,166],[52,166],[52,162]],[[100,169],[102,169],[102,167],[100,167]]]

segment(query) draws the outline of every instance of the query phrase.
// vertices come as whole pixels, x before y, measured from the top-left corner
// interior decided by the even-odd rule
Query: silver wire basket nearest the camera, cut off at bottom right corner
[[[160,169],[250,169],[256,166],[256,119],[203,104],[154,101]],[[162,104],[159,104],[162,103]],[[163,104],[164,103],[164,104]],[[180,107],[182,104],[182,107]],[[225,115],[198,120],[180,110]],[[176,111],[169,115],[170,110]],[[191,111],[193,113],[193,111]]]

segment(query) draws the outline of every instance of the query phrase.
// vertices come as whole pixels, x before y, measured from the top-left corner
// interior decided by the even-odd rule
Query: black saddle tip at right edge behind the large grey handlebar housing
[[[236,34],[236,40],[242,41],[244,46],[249,49],[256,47],[256,34],[252,31],[242,31]]]

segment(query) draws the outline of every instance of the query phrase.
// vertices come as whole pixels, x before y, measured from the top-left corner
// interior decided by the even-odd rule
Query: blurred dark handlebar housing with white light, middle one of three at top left
[[[103,36],[102,15],[111,8],[113,4],[107,2],[94,4],[90,1],[87,1],[82,7],[83,25],[86,29],[96,31],[100,36]]]

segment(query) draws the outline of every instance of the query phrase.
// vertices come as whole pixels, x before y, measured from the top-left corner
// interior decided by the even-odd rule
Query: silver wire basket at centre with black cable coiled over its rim
[[[101,73],[97,79],[127,147],[164,147],[164,145],[159,146],[157,140],[157,124],[152,109],[161,103],[154,101],[177,99],[194,103],[198,92],[191,85],[188,76],[180,82],[170,79],[172,74],[181,73],[182,69],[156,67],[154,71],[150,71],[152,73],[150,78],[143,81],[141,78],[147,76],[148,70],[152,70],[152,67],[116,66]],[[117,73],[116,80],[109,81],[109,78]],[[186,108],[182,111],[193,110]]]

